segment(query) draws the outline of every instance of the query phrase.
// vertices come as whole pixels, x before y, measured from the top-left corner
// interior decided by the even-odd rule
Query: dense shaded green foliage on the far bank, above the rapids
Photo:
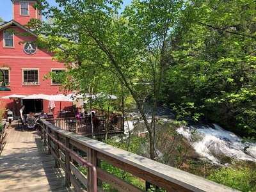
[[[256,135],[255,1],[195,1],[170,39],[163,102],[178,120]]]

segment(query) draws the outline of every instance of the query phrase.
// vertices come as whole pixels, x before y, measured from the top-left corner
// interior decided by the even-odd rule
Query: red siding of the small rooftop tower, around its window
[[[20,15],[20,1],[13,1],[13,20],[16,20],[22,25],[26,25],[30,19],[40,19],[38,18],[38,14],[36,9],[33,7],[35,2],[29,2],[29,15],[24,16]]]

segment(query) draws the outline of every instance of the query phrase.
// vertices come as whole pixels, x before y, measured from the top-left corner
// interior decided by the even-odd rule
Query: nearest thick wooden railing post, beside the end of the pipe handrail
[[[97,168],[97,151],[92,148],[88,148],[87,152],[88,162],[92,163]],[[94,192],[93,185],[93,170],[92,168],[88,168],[88,192]]]

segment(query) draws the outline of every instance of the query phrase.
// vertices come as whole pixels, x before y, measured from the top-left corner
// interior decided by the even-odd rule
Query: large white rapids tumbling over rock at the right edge
[[[191,145],[202,157],[220,164],[219,155],[228,156],[232,159],[256,162],[256,143],[244,143],[243,140],[233,132],[226,131],[214,124],[214,128],[202,127],[179,127],[177,132],[187,140],[191,140],[195,130],[197,138]]]

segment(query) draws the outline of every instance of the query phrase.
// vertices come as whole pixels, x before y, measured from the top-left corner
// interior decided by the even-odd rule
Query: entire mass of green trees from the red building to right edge
[[[150,135],[156,107],[256,135],[255,1],[42,1],[38,44],[67,63],[63,87],[131,95]],[[149,120],[143,109],[152,108]]]

